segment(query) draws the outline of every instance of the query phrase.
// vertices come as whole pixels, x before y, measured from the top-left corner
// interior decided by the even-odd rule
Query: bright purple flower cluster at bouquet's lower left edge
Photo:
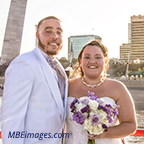
[[[73,114],[73,121],[76,121],[77,123],[82,125],[85,121],[85,117],[80,112],[76,112],[75,114]]]

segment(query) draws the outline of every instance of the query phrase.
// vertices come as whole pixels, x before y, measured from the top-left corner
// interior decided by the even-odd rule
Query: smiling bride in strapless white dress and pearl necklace
[[[69,81],[66,144],[87,144],[95,139],[96,144],[122,144],[121,139],[134,133],[137,127],[133,99],[125,85],[105,77],[108,68],[108,51],[100,41],[86,44],[78,56],[81,77]],[[108,131],[100,135],[88,135],[83,125],[72,120],[70,104],[74,98],[94,92],[108,104],[119,105],[117,118],[109,125]]]

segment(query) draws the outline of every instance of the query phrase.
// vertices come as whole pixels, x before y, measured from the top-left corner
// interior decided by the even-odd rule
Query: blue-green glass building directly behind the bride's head
[[[70,36],[68,38],[68,60],[73,58],[78,58],[78,55],[83,48],[83,46],[91,40],[102,40],[100,36],[97,35],[77,35]]]

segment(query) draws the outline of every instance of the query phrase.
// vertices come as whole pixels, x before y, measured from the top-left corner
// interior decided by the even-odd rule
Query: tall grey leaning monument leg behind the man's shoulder
[[[3,41],[1,64],[9,63],[20,53],[27,0],[11,0]]]

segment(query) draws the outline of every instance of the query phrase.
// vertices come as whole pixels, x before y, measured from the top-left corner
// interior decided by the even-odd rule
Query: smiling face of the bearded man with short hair
[[[44,20],[36,33],[39,48],[50,56],[57,55],[62,49],[62,26],[56,19]]]

